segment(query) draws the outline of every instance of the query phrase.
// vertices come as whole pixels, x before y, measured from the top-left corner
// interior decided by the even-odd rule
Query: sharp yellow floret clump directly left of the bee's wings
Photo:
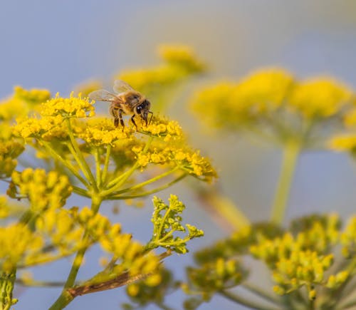
[[[70,94],[70,98],[61,98],[56,95],[56,98],[48,100],[43,103],[41,108],[41,115],[43,116],[57,116],[61,115],[63,118],[86,118],[95,115],[95,109],[93,102],[88,98],[78,98]]]

